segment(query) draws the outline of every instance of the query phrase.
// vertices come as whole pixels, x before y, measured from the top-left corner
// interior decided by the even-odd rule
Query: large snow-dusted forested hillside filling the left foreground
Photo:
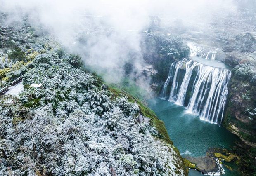
[[[14,45],[1,47],[2,87],[25,75],[20,94],[0,97],[0,175],[187,175],[154,113],[106,88],[52,39],[31,33],[34,42],[22,44],[28,28],[1,29],[2,43]],[[140,112],[154,117],[138,122]]]

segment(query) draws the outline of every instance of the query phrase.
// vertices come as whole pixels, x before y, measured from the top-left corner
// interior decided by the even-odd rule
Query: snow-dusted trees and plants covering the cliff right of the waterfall
[[[239,35],[236,41],[253,49],[256,40],[249,33]],[[249,43],[248,43],[249,42]],[[240,46],[240,45],[239,45]],[[223,126],[250,145],[256,145],[256,52],[243,49],[231,52],[225,62],[232,66],[228,84],[229,95]],[[253,49],[255,50],[255,49]]]

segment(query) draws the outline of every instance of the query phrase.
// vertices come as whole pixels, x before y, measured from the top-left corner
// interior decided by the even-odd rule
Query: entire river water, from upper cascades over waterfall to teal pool
[[[199,47],[189,46],[190,57],[171,65],[160,99],[150,99],[148,103],[164,121],[181,155],[202,157],[209,148],[230,148],[239,139],[220,126],[231,71],[215,60],[216,52],[205,53]],[[226,176],[238,175],[225,167],[224,170]],[[202,174],[191,169],[189,175]]]

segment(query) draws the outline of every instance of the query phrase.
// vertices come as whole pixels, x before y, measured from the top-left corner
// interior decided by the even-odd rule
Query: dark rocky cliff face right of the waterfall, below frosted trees
[[[256,147],[256,87],[248,80],[232,75],[228,84],[229,101],[223,126],[245,143]]]

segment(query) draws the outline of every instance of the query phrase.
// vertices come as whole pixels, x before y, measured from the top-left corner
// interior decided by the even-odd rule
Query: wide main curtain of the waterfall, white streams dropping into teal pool
[[[171,65],[161,98],[183,105],[201,120],[220,124],[228,95],[231,71],[190,59]]]

